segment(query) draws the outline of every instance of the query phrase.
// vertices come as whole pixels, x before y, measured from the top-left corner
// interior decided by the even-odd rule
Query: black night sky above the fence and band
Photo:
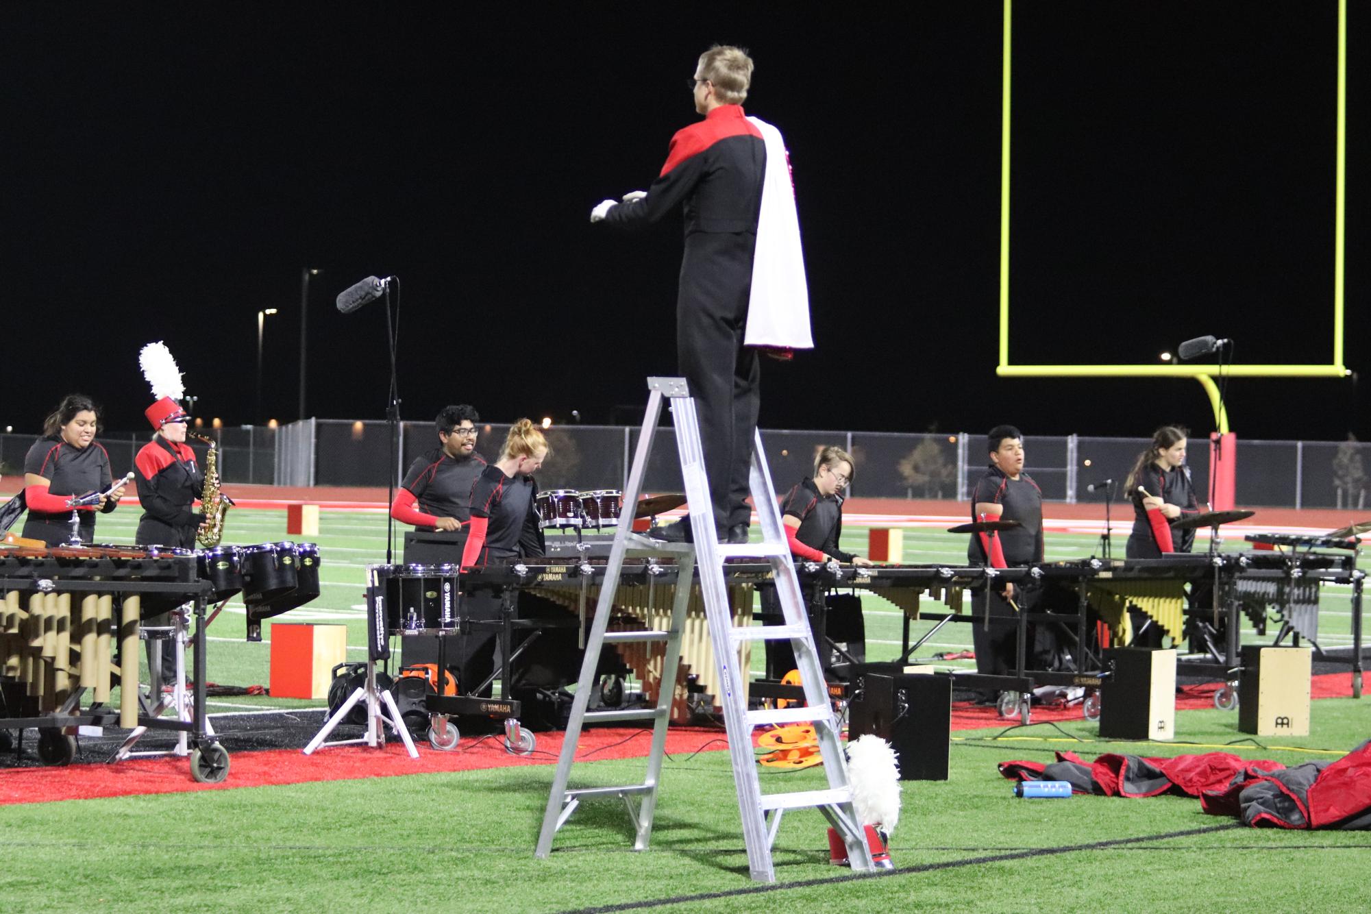
[[[407,419],[633,421],[675,373],[680,219],[592,226],[696,115],[701,51],[757,63],[786,134],[817,349],[764,366],[764,428],[1145,436],[1194,381],[994,374],[999,3],[0,5],[0,426],[73,391],[141,428],[166,340],[197,411],[378,418],[398,275]],[[875,7],[873,7],[875,8]],[[880,7],[887,10],[887,7]],[[1331,360],[1337,4],[1016,4],[1015,362]],[[1371,19],[1352,10],[1346,363],[1366,369]],[[266,319],[263,406],[256,312]],[[1366,397],[1363,397],[1366,400]],[[627,408],[618,408],[627,407]],[[1348,381],[1238,378],[1248,439],[1366,439]]]

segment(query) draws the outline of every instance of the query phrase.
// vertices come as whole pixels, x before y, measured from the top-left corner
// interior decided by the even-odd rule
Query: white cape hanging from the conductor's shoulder
[[[757,218],[757,252],[753,255],[753,292],[747,304],[746,345],[812,349],[809,332],[809,284],[805,252],[799,245],[799,217],[790,178],[786,141],[780,130],[758,118],[747,118],[766,141],[766,177],[762,208]]]

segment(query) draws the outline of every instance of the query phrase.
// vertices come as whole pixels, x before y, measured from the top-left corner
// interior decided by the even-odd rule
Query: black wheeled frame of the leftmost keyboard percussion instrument
[[[186,600],[193,600],[195,608],[195,634],[192,637],[193,644],[193,711],[189,721],[184,719],[165,719],[160,713],[155,711],[154,702],[149,702],[147,696],[138,693],[137,702],[140,713],[137,715],[137,726],[148,730],[170,730],[185,733],[193,745],[191,751],[191,776],[200,782],[215,784],[225,780],[229,774],[229,754],[222,745],[219,745],[218,739],[210,732],[208,721],[204,713],[204,682],[206,682],[206,666],[204,666],[204,626],[206,626],[206,602],[210,593],[210,584],[202,581],[195,570],[195,559],[169,559],[159,558],[155,559],[159,565],[159,570],[165,569],[165,563],[174,562],[177,565],[185,565],[185,569],[178,569],[181,580],[167,581],[167,580],[138,580],[126,578],[119,580],[121,570],[118,565],[110,562],[110,559],[96,559],[86,560],[80,565],[62,565],[52,566],[44,560],[36,560],[29,565],[29,569],[10,567],[10,563],[0,565],[0,593],[8,591],[19,592],[63,592],[71,595],[100,595],[111,593],[121,595],[125,599],[130,596],[151,596],[151,595],[175,595],[177,597],[184,597]],[[112,566],[111,566],[112,565]],[[16,571],[27,570],[23,577],[19,577]],[[159,574],[158,577],[166,577]],[[130,651],[128,644],[125,645],[123,654],[121,656],[122,663],[134,665],[137,669],[137,654],[134,648],[132,651],[133,656],[129,656]],[[121,687],[137,689],[137,677],[133,677],[132,682],[125,681],[121,676]],[[75,758],[75,729],[78,726],[117,726],[119,724],[119,710],[104,707],[100,703],[88,706],[84,711],[81,708],[81,697],[85,693],[85,688],[80,684],[73,684],[67,699],[62,706],[52,714],[38,715],[38,717],[14,717],[10,715],[10,707],[5,704],[5,717],[0,718],[0,729],[18,729],[37,728],[38,729],[38,756],[47,765],[67,765]],[[160,696],[154,696],[155,700],[160,700]]]

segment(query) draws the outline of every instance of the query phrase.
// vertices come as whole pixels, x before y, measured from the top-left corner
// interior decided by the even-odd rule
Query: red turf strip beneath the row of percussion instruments
[[[1176,710],[1213,707],[1217,684],[1186,687],[1176,696]],[[1315,699],[1349,697],[1352,678],[1346,673],[1315,676]],[[1065,721],[1080,717],[1080,707],[1034,707],[1032,719]],[[999,717],[991,707],[969,703],[953,706],[951,729],[998,729],[1015,721]],[[181,793],[188,791],[223,791],[237,787],[269,787],[307,781],[345,781],[366,777],[395,777],[435,771],[470,771],[511,765],[551,765],[562,748],[562,733],[539,733],[532,756],[510,755],[496,737],[468,741],[454,752],[437,752],[420,744],[420,758],[411,759],[398,741],[384,750],[358,745],[321,748],[314,755],[299,750],[237,752],[230,758],[229,778],[223,784],[196,784],[191,780],[189,762],[177,758],[133,759],[118,765],[71,765],[67,767],[11,769],[0,771],[0,804],[51,803],[134,793]],[[647,730],[594,729],[581,733],[577,761],[640,758],[647,754],[651,734]],[[696,751],[721,751],[728,743],[721,729],[672,728],[666,734],[669,755]]]

